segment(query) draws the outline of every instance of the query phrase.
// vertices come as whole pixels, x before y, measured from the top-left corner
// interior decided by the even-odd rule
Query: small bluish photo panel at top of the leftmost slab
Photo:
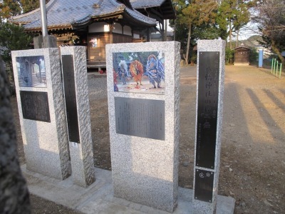
[[[46,88],[44,56],[16,57],[20,87]]]

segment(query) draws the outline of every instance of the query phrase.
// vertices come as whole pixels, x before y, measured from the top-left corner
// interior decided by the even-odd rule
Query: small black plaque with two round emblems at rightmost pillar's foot
[[[195,174],[195,199],[212,203],[213,187],[214,173],[197,169]]]

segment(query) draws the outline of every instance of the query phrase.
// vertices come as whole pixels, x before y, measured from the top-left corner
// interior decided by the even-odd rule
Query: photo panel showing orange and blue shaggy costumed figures
[[[114,91],[165,94],[165,54],[113,53]]]

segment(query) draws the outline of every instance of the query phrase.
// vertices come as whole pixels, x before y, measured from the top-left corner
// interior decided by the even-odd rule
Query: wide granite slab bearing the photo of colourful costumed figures
[[[106,46],[115,197],[177,206],[180,44]]]

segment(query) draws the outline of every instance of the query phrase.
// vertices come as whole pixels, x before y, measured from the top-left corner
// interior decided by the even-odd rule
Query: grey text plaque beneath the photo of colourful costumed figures
[[[116,132],[165,140],[165,101],[115,97]]]

